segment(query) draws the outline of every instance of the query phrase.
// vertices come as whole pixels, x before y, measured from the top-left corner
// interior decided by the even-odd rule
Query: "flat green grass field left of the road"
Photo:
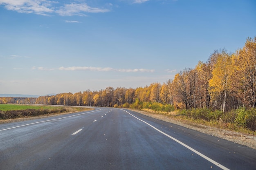
[[[56,109],[58,106],[31,106],[22,104],[0,104],[0,110],[26,110],[26,109]]]

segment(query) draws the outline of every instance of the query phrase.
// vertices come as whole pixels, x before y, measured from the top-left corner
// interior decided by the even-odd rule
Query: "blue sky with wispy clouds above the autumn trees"
[[[0,0],[0,93],[137,88],[256,36],[255,0]]]

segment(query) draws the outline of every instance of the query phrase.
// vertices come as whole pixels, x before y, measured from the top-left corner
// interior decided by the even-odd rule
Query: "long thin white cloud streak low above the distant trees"
[[[150,70],[150,69],[116,69],[116,68],[111,68],[111,67],[81,67],[81,66],[73,66],[73,67],[59,67],[59,68],[44,68],[44,67],[32,67],[32,70],[60,70],[60,71],[116,71],[116,72],[126,72],[126,73],[136,73],[136,72],[149,72],[153,73],[155,70]]]

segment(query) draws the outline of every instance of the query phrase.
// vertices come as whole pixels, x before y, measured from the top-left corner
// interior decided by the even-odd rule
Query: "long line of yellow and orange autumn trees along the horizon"
[[[129,107],[135,102],[160,103],[175,109],[213,108],[222,112],[256,108],[256,37],[235,53],[215,50],[207,62],[185,68],[174,79],[137,88],[107,87],[100,91],[61,93],[9,102],[74,106]],[[7,97],[0,103],[8,103]]]

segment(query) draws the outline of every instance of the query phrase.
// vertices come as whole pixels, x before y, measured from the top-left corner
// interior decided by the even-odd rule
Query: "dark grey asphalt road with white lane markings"
[[[118,108],[0,125],[0,170],[255,170],[256,150]]]

